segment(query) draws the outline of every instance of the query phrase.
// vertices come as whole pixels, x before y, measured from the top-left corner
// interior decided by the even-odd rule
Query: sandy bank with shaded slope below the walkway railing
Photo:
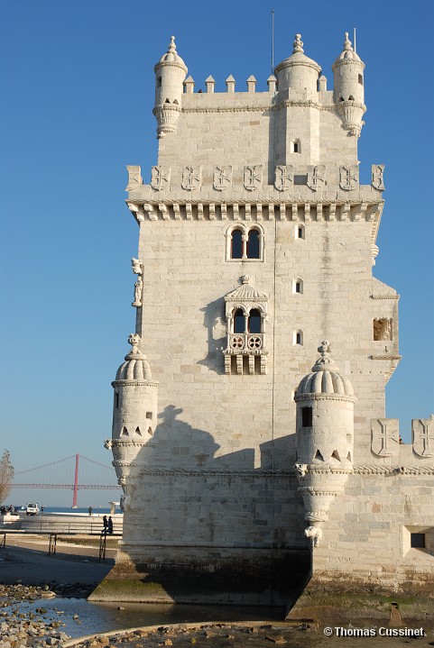
[[[0,549],[0,582],[82,583],[91,585],[104,579],[115,564],[115,550],[107,549],[106,562],[98,561],[98,548],[58,543],[54,555],[48,554],[48,536],[6,534],[5,549]]]

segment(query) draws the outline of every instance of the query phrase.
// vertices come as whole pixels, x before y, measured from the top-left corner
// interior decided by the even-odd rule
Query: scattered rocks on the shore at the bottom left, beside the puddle
[[[0,648],[48,648],[70,639],[62,632],[61,619],[47,618],[44,599],[61,597],[86,598],[93,585],[50,583],[41,586],[0,585]],[[41,599],[35,611],[23,610],[22,604]],[[61,612],[60,612],[61,615]]]

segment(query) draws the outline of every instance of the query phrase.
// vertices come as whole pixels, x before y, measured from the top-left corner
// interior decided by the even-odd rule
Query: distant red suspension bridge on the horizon
[[[70,479],[69,479],[70,477]],[[114,490],[115,470],[81,454],[15,472],[13,488],[69,488],[72,508],[77,508],[78,490]],[[68,483],[67,483],[68,482]]]

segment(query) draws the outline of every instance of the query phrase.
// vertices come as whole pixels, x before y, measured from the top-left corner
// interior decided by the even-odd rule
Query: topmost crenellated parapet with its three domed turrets
[[[337,58],[333,71],[334,91],[327,89],[327,78],[321,77],[319,64],[304,54],[300,34],[296,34],[290,57],[282,60],[274,74],[266,79],[267,90],[257,91],[257,80],[250,75],[245,89],[238,90],[236,79],[225,79],[225,91],[216,91],[216,80],[211,75],[195,92],[194,79],[187,77],[187,67],[180,58],[171,37],[169,49],[155,66],[155,105],[157,137],[176,132],[180,114],[200,112],[260,112],[285,111],[291,107],[304,107],[309,111],[332,111],[342,122],[349,135],[360,135],[365,113],[364,63],[351,47],[347,38],[344,50]]]

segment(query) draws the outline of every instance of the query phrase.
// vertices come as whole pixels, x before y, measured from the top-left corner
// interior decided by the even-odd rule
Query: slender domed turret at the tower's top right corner
[[[360,59],[345,34],[344,49],[341,51],[333,66],[335,87],[333,99],[343,122],[343,127],[351,135],[360,135],[365,114],[365,63]]]

